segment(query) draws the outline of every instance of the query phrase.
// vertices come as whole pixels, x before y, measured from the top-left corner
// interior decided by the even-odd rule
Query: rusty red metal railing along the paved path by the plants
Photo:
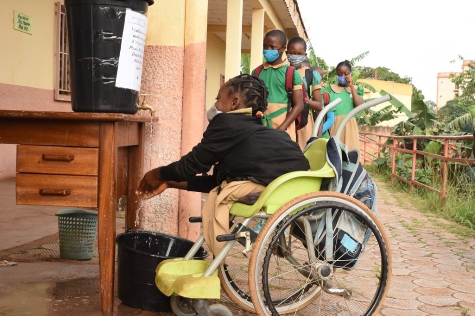
[[[422,150],[417,149],[417,140],[418,139],[429,139],[429,140],[436,140],[443,143],[443,154],[436,154],[425,152]],[[473,135],[464,135],[464,136],[398,136],[398,135],[389,135],[389,134],[378,134],[378,133],[371,133],[371,132],[360,132],[360,143],[362,142],[361,146],[361,154],[363,158],[363,165],[366,166],[367,162],[371,162],[376,158],[381,157],[383,154],[381,152],[382,148],[386,148],[385,158],[391,157],[391,183],[394,183],[394,179],[401,180],[410,185],[411,191],[414,189],[414,185],[419,187],[425,188],[430,191],[437,192],[442,197],[442,202],[445,201],[446,193],[447,193],[447,165],[449,162],[460,162],[465,163],[467,165],[474,164],[475,159],[469,158],[458,158],[458,157],[451,157],[449,156],[449,148],[454,146],[460,145],[460,140],[463,139],[473,139]],[[409,141],[407,141],[409,140]],[[412,142],[412,148],[405,148],[404,143]],[[372,148],[372,150],[370,150]],[[396,156],[398,153],[404,154],[411,154],[412,155],[412,167],[411,167],[411,177],[407,179],[402,177],[395,172],[395,164],[396,164]],[[431,157],[434,159],[438,159],[442,163],[441,167],[441,189],[440,185],[439,188],[435,186],[429,186],[424,183],[421,183],[415,179],[415,171],[416,171],[416,160],[417,156],[423,156],[424,160],[426,157]],[[435,185],[436,183],[432,183]]]

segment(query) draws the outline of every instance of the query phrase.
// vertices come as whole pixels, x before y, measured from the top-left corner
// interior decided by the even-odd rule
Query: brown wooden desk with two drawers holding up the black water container
[[[98,208],[104,313],[113,310],[119,198],[126,227],[140,228],[146,122],[150,115],[0,110],[0,143],[18,144],[17,204]]]

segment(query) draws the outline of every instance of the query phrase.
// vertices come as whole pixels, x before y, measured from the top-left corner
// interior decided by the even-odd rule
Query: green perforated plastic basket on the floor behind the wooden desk
[[[63,209],[56,213],[62,259],[87,260],[94,254],[97,236],[97,212]]]

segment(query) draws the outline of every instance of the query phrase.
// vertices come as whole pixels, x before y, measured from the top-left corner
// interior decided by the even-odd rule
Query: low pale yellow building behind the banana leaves
[[[381,96],[379,92],[383,90],[391,95],[394,95],[395,98],[397,98],[400,102],[402,102],[402,104],[404,104],[408,109],[410,109],[412,98],[412,84],[377,79],[358,79],[358,81],[368,83],[376,90],[376,92],[371,92],[368,89],[364,89],[364,99],[379,97]],[[389,102],[384,102],[375,105],[374,107],[372,107],[372,109],[379,110],[388,105],[390,105]],[[407,115],[402,112],[396,113],[396,116],[396,118],[379,123],[378,126],[394,126],[395,124],[401,121],[406,121],[408,118]]]

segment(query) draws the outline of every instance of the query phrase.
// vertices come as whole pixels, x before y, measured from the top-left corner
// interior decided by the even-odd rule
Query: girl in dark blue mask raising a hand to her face
[[[323,91],[330,94],[330,102],[336,98],[341,98],[341,103],[334,107],[335,122],[330,127],[330,134],[334,135],[338,125],[354,107],[363,103],[364,89],[353,85],[351,76],[351,64],[348,60],[341,61],[336,66],[336,76],[338,84],[330,84],[323,87]],[[359,133],[356,118],[352,117],[341,134],[340,140],[346,144],[348,150],[359,150]]]

